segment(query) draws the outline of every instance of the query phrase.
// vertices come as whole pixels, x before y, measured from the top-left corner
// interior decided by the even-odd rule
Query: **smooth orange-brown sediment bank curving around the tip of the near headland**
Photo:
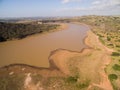
[[[63,72],[66,75],[70,75],[69,67],[67,65],[67,62],[69,62],[69,59],[76,56],[82,56],[86,53],[89,53],[92,49],[82,49],[80,52],[76,51],[70,51],[65,49],[58,49],[55,52],[51,54],[49,57],[50,67],[56,66],[61,72]],[[53,64],[51,64],[51,62]],[[54,68],[54,67],[53,67]]]

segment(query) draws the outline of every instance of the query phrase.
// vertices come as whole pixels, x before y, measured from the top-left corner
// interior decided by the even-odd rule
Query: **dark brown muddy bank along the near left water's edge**
[[[44,68],[27,64],[10,64],[0,68],[0,77],[9,75],[10,72],[14,72],[14,74],[40,74],[43,77],[64,76],[64,74],[56,68]]]

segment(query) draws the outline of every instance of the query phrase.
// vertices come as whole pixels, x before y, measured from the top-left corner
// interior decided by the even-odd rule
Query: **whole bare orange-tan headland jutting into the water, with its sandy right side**
[[[69,65],[73,68],[77,67],[81,77],[80,81],[91,81],[87,90],[96,88],[97,90],[113,90],[104,70],[111,61],[110,54],[113,50],[102,45],[98,37],[91,31],[88,32],[85,43],[91,49],[84,49],[81,52],[58,49],[52,52],[49,60],[67,75],[71,74]]]

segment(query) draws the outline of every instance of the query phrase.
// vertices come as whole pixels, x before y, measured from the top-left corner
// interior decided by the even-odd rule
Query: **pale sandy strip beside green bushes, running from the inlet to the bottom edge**
[[[93,34],[92,32],[89,32],[89,34],[90,33]],[[90,35],[88,35],[88,36],[90,36]],[[105,73],[106,66],[111,62],[110,54],[113,52],[113,50],[102,45],[102,43],[99,41],[98,36],[96,36],[95,34],[93,34],[93,36],[95,36],[96,43],[93,43],[93,41],[92,41],[92,43],[90,43],[90,37],[88,37],[89,40],[86,41],[86,44],[88,44],[89,46],[94,46],[95,49],[97,49],[99,47],[102,50],[101,53],[103,53],[103,56],[101,57],[101,59],[102,59],[101,62],[102,61],[103,62],[102,62],[102,65],[100,66],[100,70],[99,70],[101,81],[99,84],[92,83],[92,86],[97,86],[104,90],[113,90],[112,85],[108,79],[108,76]],[[96,44],[96,45],[94,45],[94,44]],[[91,89],[88,89],[88,90],[91,90]]]

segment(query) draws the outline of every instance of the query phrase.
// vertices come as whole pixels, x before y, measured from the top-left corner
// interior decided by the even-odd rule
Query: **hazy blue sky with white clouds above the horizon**
[[[120,15],[120,0],[0,0],[0,17]]]

